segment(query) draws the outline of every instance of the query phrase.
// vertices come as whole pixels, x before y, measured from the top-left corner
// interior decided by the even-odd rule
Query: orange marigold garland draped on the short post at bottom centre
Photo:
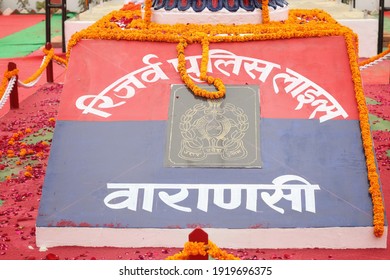
[[[203,242],[188,241],[184,244],[184,248],[181,252],[167,257],[166,260],[188,260],[190,256],[196,255],[209,255],[216,260],[240,260],[240,258],[221,250],[210,240],[207,244]]]

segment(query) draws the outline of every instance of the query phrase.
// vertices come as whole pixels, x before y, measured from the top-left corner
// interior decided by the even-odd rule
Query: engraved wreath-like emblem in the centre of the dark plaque
[[[202,161],[219,156],[225,161],[244,159],[248,151],[243,138],[249,128],[244,110],[222,100],[208,100],[188,109],[180,118],[182,136],[178,156]]]

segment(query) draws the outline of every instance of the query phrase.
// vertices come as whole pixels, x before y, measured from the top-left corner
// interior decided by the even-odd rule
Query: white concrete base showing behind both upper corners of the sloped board
[[[119,10],[123,1],[103,2],[65,21],[65,40],[68,44],[71,36],[87,28],[104,15]],[[359,57],[372,57],[377,54],[378,20],[365,16],[363,11],[350,10],[349,5],[331,0],[290,0],[290,9],[321,9],[329,13],[340,24],[351,28],[359,36]]]

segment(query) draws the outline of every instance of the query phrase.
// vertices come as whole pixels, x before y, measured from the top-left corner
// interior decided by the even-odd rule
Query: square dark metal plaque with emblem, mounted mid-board
[[[227,85],[224,98],[205,99],[172,85],[165,166],[260,168],[259,87]]]

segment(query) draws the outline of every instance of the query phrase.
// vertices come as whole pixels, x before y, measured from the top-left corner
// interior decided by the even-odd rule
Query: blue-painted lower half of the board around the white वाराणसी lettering
[[[164,167],[165,121],[67,122],[59,121],[45,177],[37,225],[90,225],[93,227],[215,228],[371,226],[365,158],[358,121],[262,119],[263,168]],[[208,212],[197,208],[197,190],[177,205],[168,206],[155,191],[153,211],[110,209],[104,198],[112,193],[107,183],[165,184],[272,184],[282,175],[296,175],[315,191],[316,212],[292,210],[291,201],[275,203],[284,214],[268,206],[258,194],[257,211],[241,205],[223,209],[209,196]],[[166,191],[166,190],[163,190]],[[170,191],[167,191],[170,192]],[[169,194],[175,194],[173,190]],[[269,191],[272,194],[274,191]],[[302,201],[305,196],[302,194]],[[121,199],[124,200],[123,198]],[[225,202],[230,192],[225,192]]]

